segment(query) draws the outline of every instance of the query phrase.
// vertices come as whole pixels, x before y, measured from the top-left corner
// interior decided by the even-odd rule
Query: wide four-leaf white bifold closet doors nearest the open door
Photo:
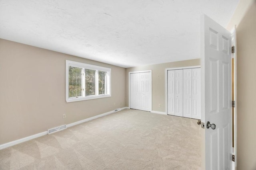
[[[167,71],[167,114],[201,119],[201,68]]]

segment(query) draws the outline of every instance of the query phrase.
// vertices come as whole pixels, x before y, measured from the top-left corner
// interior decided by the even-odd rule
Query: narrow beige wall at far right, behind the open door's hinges
[[[248,10],[242,12],[242,7]],[[237,169],[256,170],[256,0],[239,2],[228,28],[234,25],[237,26]]]

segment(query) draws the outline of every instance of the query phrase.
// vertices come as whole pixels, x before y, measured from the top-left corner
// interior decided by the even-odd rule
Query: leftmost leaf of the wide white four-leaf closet
[[[167,71],[167,81],[167,114],[175,115],[175,70]]]

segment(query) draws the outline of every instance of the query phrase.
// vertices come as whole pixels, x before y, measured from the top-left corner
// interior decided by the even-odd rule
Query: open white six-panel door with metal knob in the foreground
[[[201,20],[202,122],[206,170],[232,169],[231,33]],[[207,126],[207,122],[211,125]],[[216,128],[214,129],[214,125]],[[208,127],[208,128],[207,128]]]

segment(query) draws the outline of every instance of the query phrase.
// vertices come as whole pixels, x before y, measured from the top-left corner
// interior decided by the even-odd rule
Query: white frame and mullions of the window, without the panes
[[[98,74],[96,74],[96,85],[95,85],[95,90],[96,90],[96,95],[92,95],[92,96],[85,96],[85,97],[78,97],[78,98],[69,98],[68,97],[68,74],[69,74],[69,66],[74,66],[74,67],[81,67],[81,68],[86,68],[86,69],[90,69],[90,70],[96,70],[96,72],[99,71],[106,71],[109,72],[109,94],[98,94]],[[84,84],[82,84],[82,86],[85,86]],[[105,84],[106,86],[106,84]],[[95,66],[95,65],[91,65],[91,64],[85,64],[85,63],[79,63],[79,62],[75,62],[75,61],[69,61],[66,60],[66,102],[77,102],[77,101],[82,101],[82,100],[92,100],[92,99],[98,99],[98,98],[107,98],[107,97],[111,97],[111,68],[106,68],[106,67],[102,67],[102,66]]]

